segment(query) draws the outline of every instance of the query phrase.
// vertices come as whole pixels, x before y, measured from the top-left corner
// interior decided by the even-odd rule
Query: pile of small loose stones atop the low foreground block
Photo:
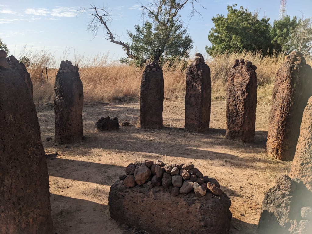
[[[206,192],[221,195],[223,191],[220,184],[214,178],[208,178],[191,163],[165,164],[162,161],[130,163],[126,167],[126,174],[119,176],[124,180],[126,188],[134,186],[160,187],[168,189],[173,195],[180,193],[186,195],[192,191],[196,197],[202,197]]]

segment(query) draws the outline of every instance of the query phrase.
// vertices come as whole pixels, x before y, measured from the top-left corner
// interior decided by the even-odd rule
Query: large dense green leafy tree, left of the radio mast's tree
[[[248,9],[237,4],[227,6],[227,17],[217,14],[212,18],[215,24],[211,28],[208,40],[211,47],[206,46],[209,55],[214,53],[232,53],[247,51],[262,51],[265,55],[271,46],[269,18],[259,19],[258,13],[252,14]]]

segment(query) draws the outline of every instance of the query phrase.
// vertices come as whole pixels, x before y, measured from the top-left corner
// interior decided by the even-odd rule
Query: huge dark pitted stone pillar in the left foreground
[[[24,77],[0,66],[0,233],[52,234],[48,171],[36,108]]]

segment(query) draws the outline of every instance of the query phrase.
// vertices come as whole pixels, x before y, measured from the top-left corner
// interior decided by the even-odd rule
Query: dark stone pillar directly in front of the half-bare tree
[[[154,60],[143,71],[140,92],[141,128],[163,127],[163,70]]]

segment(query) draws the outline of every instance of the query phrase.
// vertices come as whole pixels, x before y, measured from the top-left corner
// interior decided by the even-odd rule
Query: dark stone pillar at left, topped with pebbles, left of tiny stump
[[[70,61],[61,61],[55,78],[55,142],[72,143],[83,136],[83,86],[78,67]]]

